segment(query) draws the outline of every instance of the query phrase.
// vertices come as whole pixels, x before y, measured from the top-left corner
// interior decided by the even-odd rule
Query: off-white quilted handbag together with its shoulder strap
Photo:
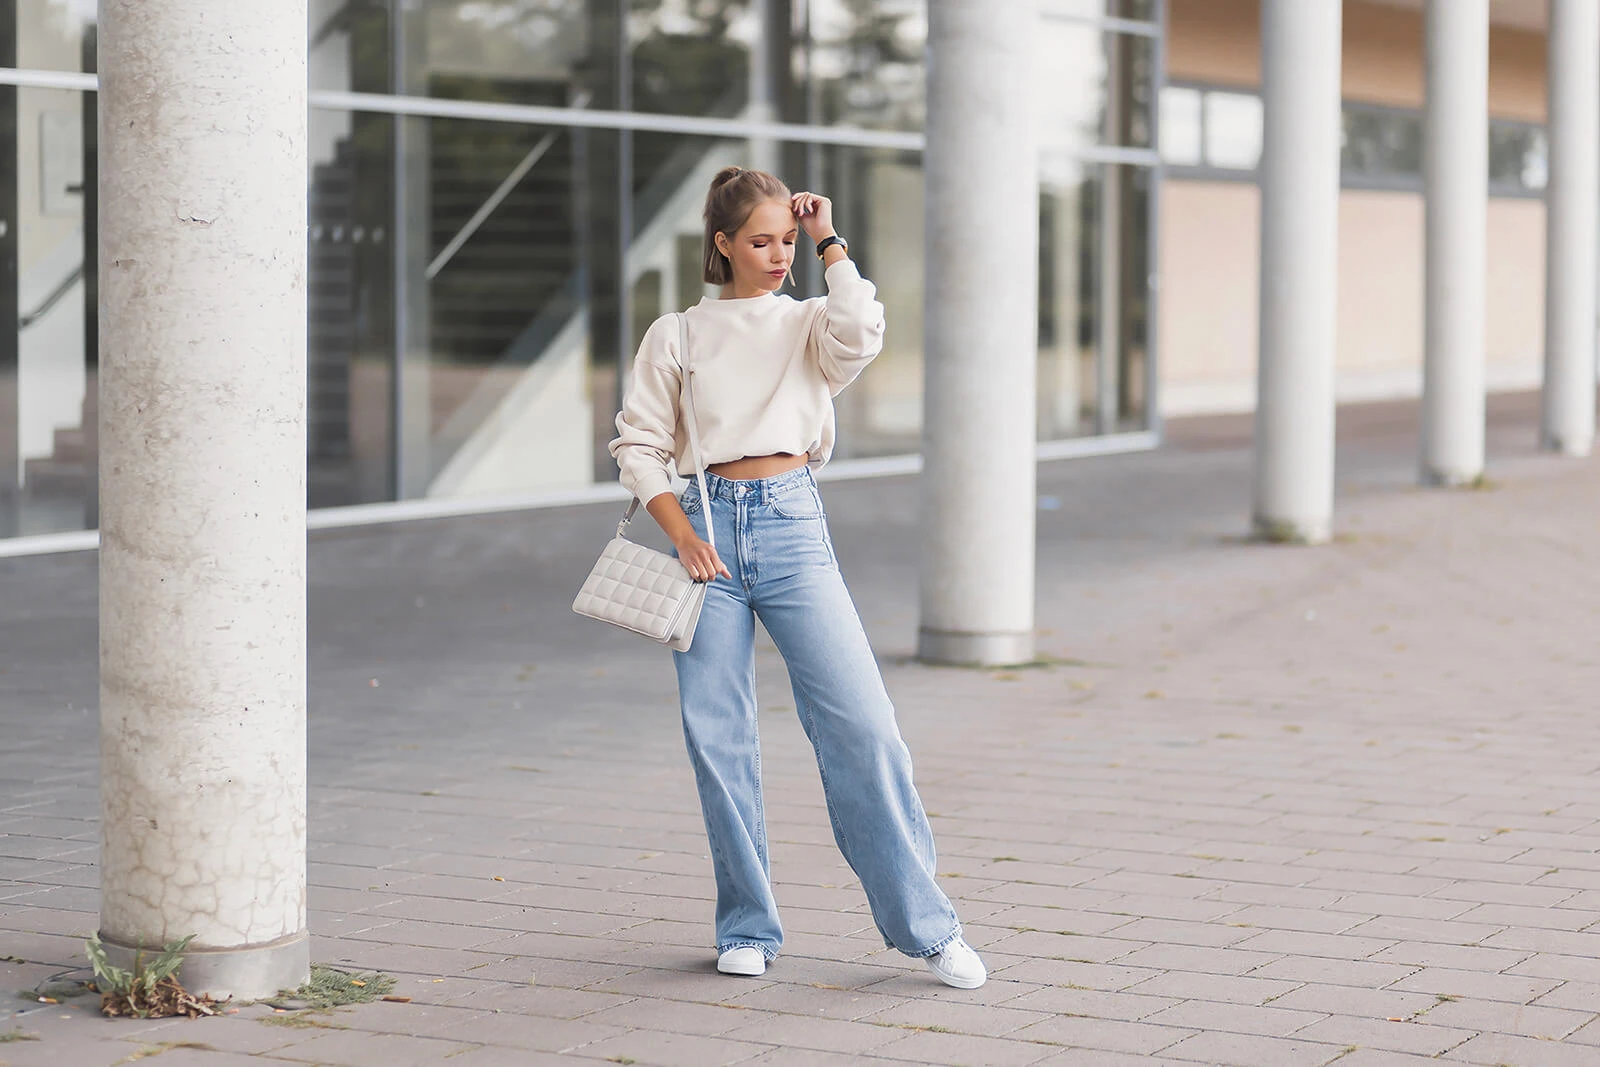
[[[683,421],[690,430],[690,450],[694,456],[694,478],[699,482],[701,499],[706,501],[706,541],[717,547],[717,531],[710,528],[710,494],[706,491],[706,464],[701,461],[699,429],[694,426],[694,386],[690,379],[688,322],[678,314],[678,352],[683,363]],[[706,582],[690,577],[675,557],[666,552],[634,544],[624,534],[638,512],[635,496],[616,536],[606,544],[594,569],[584,579],[584,587],[573,600],[573,611],[590,619],[600,619],[659,641],[674,651],[685,653],[694,640],[694,625],[706,605]]]

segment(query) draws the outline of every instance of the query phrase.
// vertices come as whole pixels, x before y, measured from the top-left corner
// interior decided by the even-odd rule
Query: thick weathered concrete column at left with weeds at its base
[[[307,977],[306,0],[101,0],[101,936]]]

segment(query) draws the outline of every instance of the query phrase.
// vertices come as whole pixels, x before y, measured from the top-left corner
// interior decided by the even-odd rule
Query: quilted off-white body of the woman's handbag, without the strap
[[[688,651],[706,585],[670,555],[613,537],[573,600],[573,611]]]

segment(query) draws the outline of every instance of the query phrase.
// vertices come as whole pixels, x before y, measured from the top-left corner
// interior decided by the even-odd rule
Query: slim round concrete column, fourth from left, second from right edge
[[[1483,477],[1488,0],[1427,2],[1422,483]]]

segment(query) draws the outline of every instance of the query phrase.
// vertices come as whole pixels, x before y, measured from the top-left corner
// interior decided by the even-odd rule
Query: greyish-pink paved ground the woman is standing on
[[[1237,421],[1046,466],[1027,670],[909,664],[915,485],[826,490],[994,971],[966,993],[875,939],[771,651],[789,942],[714,973],[670,665],[566,614],[613,509],[320,533],[314,957],[411,1003],[8,1000],[0,1061],[1600,1064],[1600,466],[1534,454],[1530,410],[1494,405],[1482,493],[1408,488],[1413,408],[1344,413],[1322,549],[1232,537]],[[94,926],[93,568],[0,561],[0,990]]]

